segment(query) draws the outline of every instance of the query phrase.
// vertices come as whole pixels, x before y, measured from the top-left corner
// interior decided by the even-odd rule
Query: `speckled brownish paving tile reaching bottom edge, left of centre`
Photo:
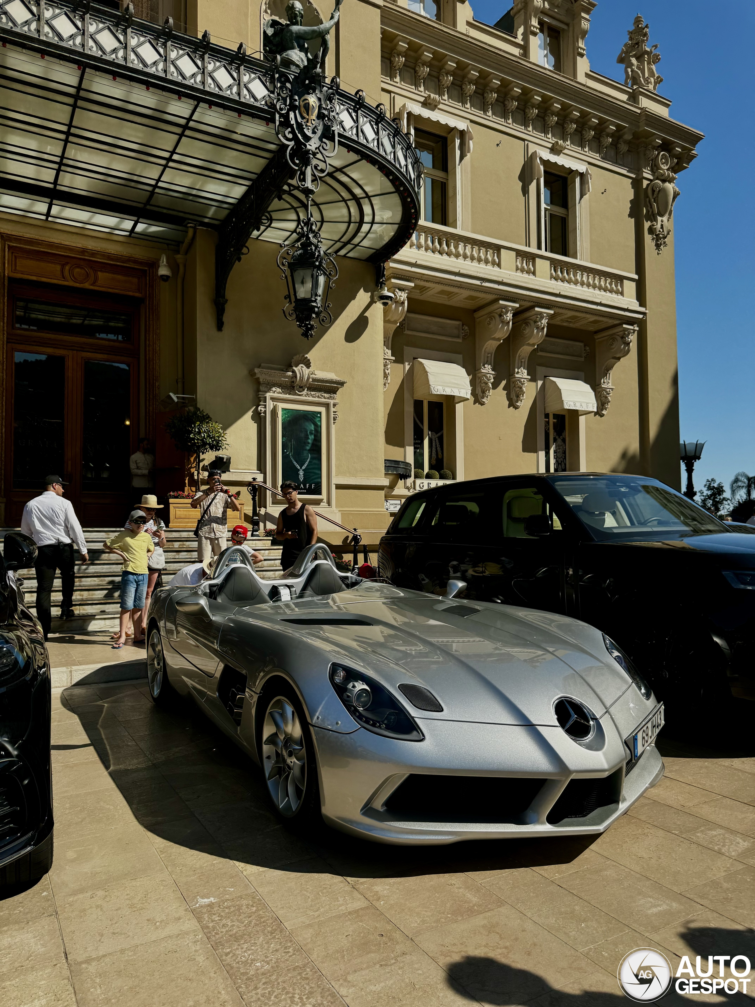
[[[340,998],[255,891],[194,914],[247,1003],[340,1004]]]

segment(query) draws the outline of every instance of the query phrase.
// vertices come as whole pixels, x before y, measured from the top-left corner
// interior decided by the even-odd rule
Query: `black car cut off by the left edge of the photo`
[[[42,629],[16,571],[36,546],[9,532],[0,558],[0,885],[41,877],[52,865],[50,674]]]

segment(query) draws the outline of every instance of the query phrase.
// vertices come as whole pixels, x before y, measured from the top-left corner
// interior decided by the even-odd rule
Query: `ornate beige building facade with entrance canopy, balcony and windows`
[[[181,488],[181,403],[228,430],[230,485],[293,476],[371,544],[436,477],[677,485],[673,210],[702,136],[669,115],[649,26],[616,40],[621,81],[591,68],[594,0],[494,25],[345,0],[312,196],[333,320],[305,342],[277,260],[306,199],[259,59],[284,8],[0,0],[5,523],[41,464],[113,524],[139,437],[157,491]],[[330,13],[307,0],[303,23]],[[282,501],[261,502],[270,526]]]

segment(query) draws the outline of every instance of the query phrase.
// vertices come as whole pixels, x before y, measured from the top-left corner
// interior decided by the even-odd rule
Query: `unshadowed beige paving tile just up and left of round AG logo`
[[[616,937],[624,923],[528,867],[482,882],[500,898],[581,950]]]

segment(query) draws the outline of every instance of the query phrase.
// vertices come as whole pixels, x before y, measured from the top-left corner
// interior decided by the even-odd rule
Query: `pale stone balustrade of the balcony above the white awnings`
[[[508,242],[491,241],[438,224],[420,224],[399,258],[406,255],[415,258],[418,253],[432,257],[438,266],[443,260],[449,265],[454,261],[456,273],[458,266],[466,265],[474,267],[474,275],[479,277],[477,270],[481,267],[493,281],[496,274],[502,279],[501,273],[514,273],[525,280],[550,281],[558,287],[578,288],[601,298],[607,295],[634,300],[636,297],[636,277],[631,273],[596,267]]]

